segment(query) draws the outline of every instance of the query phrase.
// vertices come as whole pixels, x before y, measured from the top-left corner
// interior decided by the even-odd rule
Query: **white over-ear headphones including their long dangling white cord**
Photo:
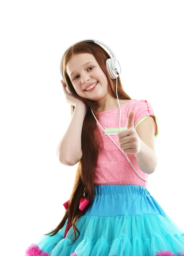
[[[113,54],[112,50],[109,49],[109,47],[107,47],[105,44],[102,44],[101,42],[97,41],[97,40],[93,40],[93,39],[87,39],[87,40],[82,40],[82,41],[79,41],[77,42],[76,44],[78,43],[81,43],[81,42],[92,42],[92,43],[98,43],[98,44],[101,44],[103,47],[105,47],[106,49],[109,50],[110,52],[110,55],[112,55],[112,58],[109,58],[106,60],[106,68],[107,68],[107,71],[111,77],[111,79],[116,79],[116,95],[117,95],[117,99],[118,99],[118,92],[117,92],[117,86],[118,86],[118,76],[119,74],[121,73],[121,67],[120,67],[120,64],[119,64],[119,61],[117,60],[117,58],[115,57],[115,55]],[[73,46],[73,44],[71,45]],[[71,47],[70,46],[70,47]],[[69,48],[70,48],[69,47]],[[69,49],[68,48],[68,49]],[[68,50],[66,49],[66,51]],[[61,58],[61,61],[60,61],[60,73],[62,75],[62,80],[63,82],[65,83],[64,79],[63,79],[63,73],[62,73],[62,64],[63,64],[63,58],[64,58],[64,55],[66,53],[66,51],[63,53],[63,56]],[[106,51],[107,52],[107,51]],[[66,83],[65,83],[66,84]],[[66,91],[69,93],[69,94],[72,94],[72,92],[69,90],[69,88],[66,86]],[[120,131],[121,131],[121,108],[120,108],[120,104],[119,104],[119,99],[118,99],[118,105],[119,105],[119,110],[120,110],[120,118],[119,118],[119,128],[120,128]],[[91,109],[92,111],[92,109]],[[95,117],[96,119],[96,116],[95,114],[93,113],[92,111],[92,114],[93,116]],[[96,119],[96,121],[98,122],[98,120]],[[99,122],[98,122],[99,124]],[[100,125],[100,124],[99,124]],[[101,127],[101,125],[100,125]],[[102,128],[102,127],[101,127]],[[102,130],[107,134],[107,132],[102,128]],[[109,136],[109,134],[107,134]],[[112,138],[109,136],[109,138],[112,140]],[[112,140],[113,143],[115,143],[114,140]],[[121,150],[121,148],[115,143],[115,145]],[[132,166],[133,170],[135,171],[135,173],[141,177],[141,175],[138,174],[138,172],[135,170],[135,168],[133,167],[131,161],[129,160],[129,158],[127,157],[127,155],[121,150],[121,152],[125,155],[126,159],[129,161],[130,165]],[[148,182],[148,180],[144,179],[143,177],[141,177],[142,180],[145,180],[146,182]]]

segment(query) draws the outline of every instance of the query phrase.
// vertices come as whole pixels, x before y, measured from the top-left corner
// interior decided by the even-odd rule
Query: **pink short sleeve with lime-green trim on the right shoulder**
[[[135,104],[135,117],[134,117],[134,127],[135,129],[137,126],[143,122],[148,116],[153,116],[155,121],[155,138],[158,136],[158,120],[155,116],[155,113],[152,109],[150,102],[145,99],[138,100]]]

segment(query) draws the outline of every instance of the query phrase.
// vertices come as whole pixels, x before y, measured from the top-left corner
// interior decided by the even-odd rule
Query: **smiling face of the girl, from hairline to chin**
[[[108,93],[108,81],[103,70],[90,53],[74,54],[66,64],[66,72],[76,91],[85,99],[98,101]],[[98,82],[95,86],[94,84]],[[94,86],[90,87],[90,84]],[[90,90],[85,90],[86,88]]]

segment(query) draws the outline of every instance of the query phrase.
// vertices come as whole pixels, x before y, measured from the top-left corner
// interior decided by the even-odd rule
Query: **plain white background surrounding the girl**
[[[177,0],[1,3],[1,250],[8,250],[2,255],[24,255],[63,218],[77,165],[63,166],[56,155],[70,122],[60,59],[89,38],[118,57],[126,93],[152,105],[158,166],[147,189],[184,229],[183,13]]]

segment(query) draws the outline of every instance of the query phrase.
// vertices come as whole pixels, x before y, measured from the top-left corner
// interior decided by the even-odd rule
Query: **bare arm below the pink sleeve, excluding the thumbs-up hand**
[[[157,155],[155,153],[155,123],[152,116],[148,116],[141,122],[136,132],[141,139],[141,151],[135,155],[139,168],[147,173],[155,172],[158,164]]]

